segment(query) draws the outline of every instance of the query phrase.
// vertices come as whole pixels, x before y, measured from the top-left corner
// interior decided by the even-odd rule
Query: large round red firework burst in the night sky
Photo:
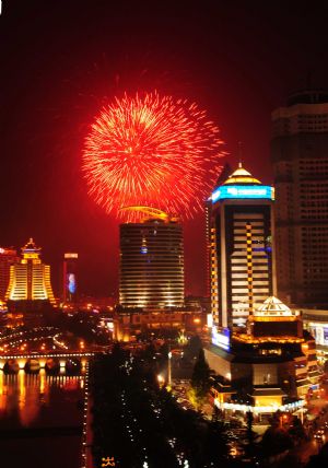
[[[220,169],[219,129],[195,103],[157,92],[115,98],[85,140],[89,194],[120,217],[128,206],[189,218],[202,208]]]

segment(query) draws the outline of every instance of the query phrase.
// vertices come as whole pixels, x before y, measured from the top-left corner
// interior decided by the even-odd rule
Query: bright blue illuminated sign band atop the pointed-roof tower
[[[211,196],[213,203],[218,200],[230,198],[258,198],[274,200],[274,188],[269,185],[222,185],[213,191]]]

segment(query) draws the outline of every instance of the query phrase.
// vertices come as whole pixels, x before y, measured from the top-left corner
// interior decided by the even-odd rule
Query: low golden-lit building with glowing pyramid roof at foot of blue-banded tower
[[[218,375],[212,395],[221,409],[295,411],[318,387],[314,338],[300,314],[274,296],[248,317],[245,332],[224,335],[213,326],[204,354]]]

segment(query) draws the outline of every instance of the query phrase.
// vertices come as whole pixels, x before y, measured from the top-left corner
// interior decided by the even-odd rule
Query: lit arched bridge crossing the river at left
[[[30,367],[32,371],[39,368],[66,368],[68,363],[79,362],[85,367],[86,362],[94,352],[67,352],[67,353],[31,353],[31,354],[5,354],[0,355],[0,370],[5,368],[17,372]]]

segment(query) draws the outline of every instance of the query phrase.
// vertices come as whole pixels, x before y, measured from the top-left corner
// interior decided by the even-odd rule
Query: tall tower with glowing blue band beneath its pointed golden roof
[[[242,164],[211,196],[211,305],[220,328],[245,326],[256,304],[276,293],[273,199],[273,188]]]

